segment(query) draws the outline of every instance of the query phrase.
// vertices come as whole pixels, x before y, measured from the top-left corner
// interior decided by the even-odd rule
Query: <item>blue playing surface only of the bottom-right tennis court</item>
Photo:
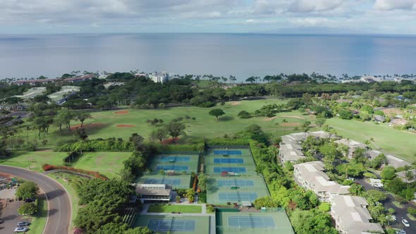
[[[228,216],[228,226],[241,228],[276,228],[271,216]]]

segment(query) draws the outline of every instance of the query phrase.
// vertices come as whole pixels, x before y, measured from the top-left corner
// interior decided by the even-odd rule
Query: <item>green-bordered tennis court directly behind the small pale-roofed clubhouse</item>
[[[178,175],[178,176],[167,176],[167,175],[154,175],[145,174],[140,178],[137,178],[135,183],[142,184],[165,184],[171,185],[173,189],[187,189],[190,186],[190,175]]]

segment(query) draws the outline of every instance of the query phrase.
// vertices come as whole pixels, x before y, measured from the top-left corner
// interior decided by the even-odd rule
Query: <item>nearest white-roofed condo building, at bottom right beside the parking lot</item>
[[[331,195],[331,204],[331,216],[339,233],[384,233],[379,223],[372,223],[364,197]]]

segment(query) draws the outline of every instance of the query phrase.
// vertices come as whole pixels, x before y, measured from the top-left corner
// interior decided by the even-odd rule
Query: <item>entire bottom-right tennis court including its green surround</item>
[[[216,233],[293,234],[294,232],[284,209],[253,213],[219,209],[216,211]]]

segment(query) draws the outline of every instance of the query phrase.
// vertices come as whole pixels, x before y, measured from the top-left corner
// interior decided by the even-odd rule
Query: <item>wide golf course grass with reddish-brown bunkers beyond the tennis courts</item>
[[[279,113],[277,118],[254,117],[242,119],[238,118],[237,116],[238,113],[242,110],[252,112],[260,109],[265,104],[274,103],[284,104],[286,101],[279,101],[276,99],[237,101],[227,102],[224,106],[216,106],[213,108],[200,108],[190,106],[153,110],[128,109],[128,113],[124,114],[118,114],[116,111],[101,111],[91,113],[92,118],[85,121],[85,124],[89,139],[95,139],[99,137],[121,137],[125,140],[128,140],[128,137],[130,137],[132,133],[139,133],[140,135],[147,137],[152,132],[152,130],[158,127],[158,125],[150,125],[149,123],[146,123],[147,119],[158,118],[163,119],[164,123],[168,123],[173,118],[185,117],[185,115],[188,115],[190,117],[195,117],[196,120],[184,120],[185,125],[189,125],[189,127],[187,127],[185,130],[187,136],[182,137],[186,140],[201,137],[221,137],[224,134],[232,135],[244,130],[247,125],[252,123],[260,125],[266,133],[272,133],[275,135],[277,130],[278,135],[284,135],[285,130],[287,134],[291,132],[294,127],[283,127],[281,125],[276,126],[275,123],[281,123],[283,118],[285,118],[288,123],[292,124],[302,123],[305,121],[305,119],[309,119],[309,116],[302,116],[298,111],[290,113]],[[219,121],[216,121],[214,116],[209,116],[208,114],[208,112],[214,108],[221,108],[226,113],[226,115],[222,116]],[[282,116],[292,116],[295,118]],[[72,123],[72,125],[77,124],[79,124],[77,121],[73,121]],[[120,127],[120,125],[127,125],[130,127]],[[46,137],[48,140],[48,147],[54,147],[56,142],[60,140],[73,138],[73,135],[60,135],[58,133],[54,133],[56,131],[57,128],[51,126],[49,134],[42,136]],[[26,134],[26,130],[23,130],[23,133],[21,133],[22,137],[25,137]],[[35,135],[35,131],[30,131],[29,139],[35,139]]]

